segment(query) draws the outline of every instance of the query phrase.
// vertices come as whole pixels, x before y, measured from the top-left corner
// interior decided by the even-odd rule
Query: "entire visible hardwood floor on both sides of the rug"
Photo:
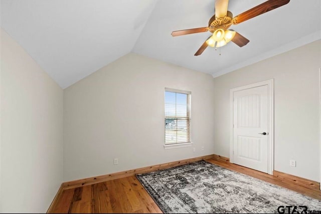
[[[207,161],[321,200],[321,190],[223,160]],[[162,213],[135,176],[65,189],[51,210],[52,213]]]

